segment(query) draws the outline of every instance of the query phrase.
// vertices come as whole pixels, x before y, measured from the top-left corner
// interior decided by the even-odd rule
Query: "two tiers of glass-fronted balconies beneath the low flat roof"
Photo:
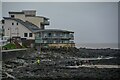
[[[49,40],[53,41],[53,42],[49,42]],[[73,34],[68,34],[68,35],[66,35],[66,34],[62,34],[62,35],[43,34],[42,36],[40,36],[39,34],[36,34],[36,36],[35,36],[36,43],[54,43],[54,40],[57,40],[57,42],[55,42],[55,43],[58,43],[59,41],[63,41],[61,43],[74,43],[74,42],[69,42],[69,40],[74,40],[74,36],[73,36]],[[68,42],[64,42],[66,40],[68,40]]]

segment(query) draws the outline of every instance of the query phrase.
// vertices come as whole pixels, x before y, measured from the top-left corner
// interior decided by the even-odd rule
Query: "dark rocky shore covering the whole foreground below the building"
[[[26,54],[2,63],[2,80],[120,80],[120,68],[89,68],[83,65],[120,65],[116,49],[28,49]],[[79,58],[105,58],[80,60]],[[39,63],[37,61],[40,61]],[[69,68],[67,66],[82,66]]]

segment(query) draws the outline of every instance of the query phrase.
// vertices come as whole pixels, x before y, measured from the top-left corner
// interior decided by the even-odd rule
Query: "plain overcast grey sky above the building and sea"
[[[37,15],[50,18],[47,28],[74,31],[77,44],[118,42],[117,2],[3,2],[2,9],[3,16],[8,11],[35,9]]]

